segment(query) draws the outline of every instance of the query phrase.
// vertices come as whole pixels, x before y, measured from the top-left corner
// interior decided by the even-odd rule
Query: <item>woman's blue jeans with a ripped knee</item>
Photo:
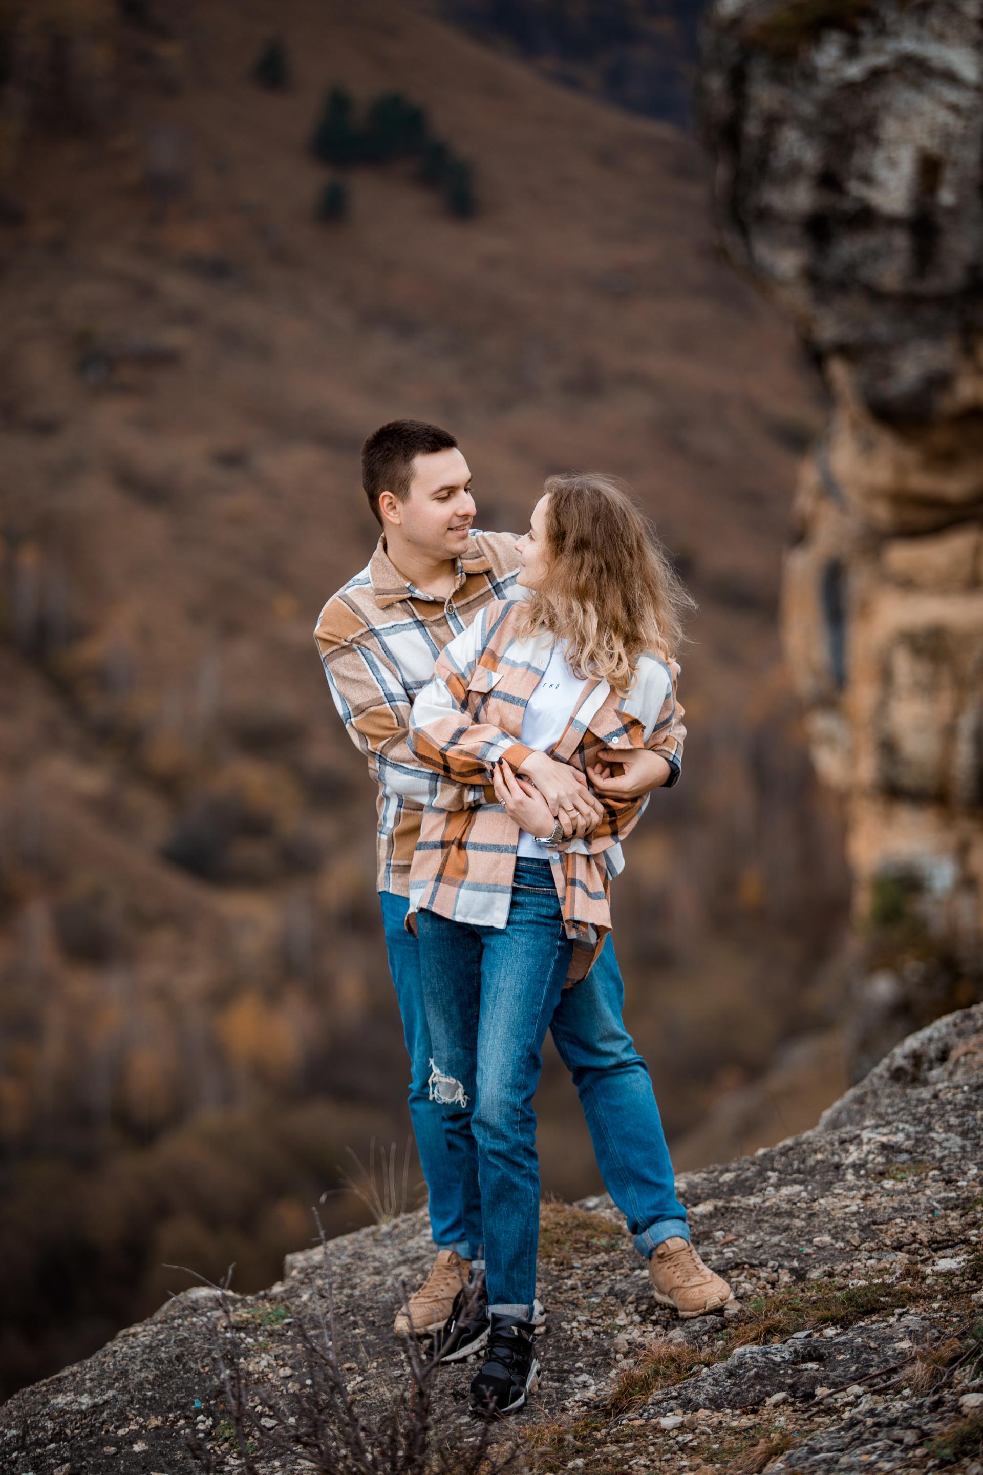
[[[572,943],[545,860],[517,860],[508,925],[417,913],[430,1087],[444,1108],[464,1227],[485,1242],[492,1307],[532,1307],[539,1161],[532,1097]]]

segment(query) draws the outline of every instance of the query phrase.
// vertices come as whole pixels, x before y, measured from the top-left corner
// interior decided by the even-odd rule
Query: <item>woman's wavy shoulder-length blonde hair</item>
[[[643,650],[675,656],[696,600],[615,478],[563,472],[542,490],[550,565],[523,606],[522,630],[550,630],[566,642],[576,676],[626,692]]]

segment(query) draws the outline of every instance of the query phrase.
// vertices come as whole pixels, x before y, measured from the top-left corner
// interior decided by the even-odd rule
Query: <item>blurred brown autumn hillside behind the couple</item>
[[[12,1389],[183,1285],[165,1263],[234,1260],[249,1291],[323,1192],[329,1233],[364,1223],[346,1148],[396,1140],[399,1192],[373,792],[311,640],[376,538],[358,450],[382,420],[448,425],[488,527],[522,530],[557,468],[628,478],[700,602],[684,782],[615,898],[672,1136],[821,1022],[846,879],[775,633],[819,410],[718,260],[693,142],[395,0],[0,15]],[[252,77],[274,28],[284,88]],[[424,105],[477,214],[404,161],[352,168],[348,217],[318,221],[332,84]],[[544,1186],[590,1192],[553,1058],[538,1109]]]

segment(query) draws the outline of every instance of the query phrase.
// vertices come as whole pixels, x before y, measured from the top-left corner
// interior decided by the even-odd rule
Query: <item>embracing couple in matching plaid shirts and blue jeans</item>
[[[479,532],[454,437],[395,420],[365,441],[363,485],[382,537],[315,642],[379,785],[377,889],[438,1251],[395,1330],[432,1335],[444,1361],[483,1351],[470,1406],[503,1415],[539,1373],[547,1030],[656,1299],[691,1317],[730,1298],[690,1243],[610,937],[622,839],[681,773],[688,596],[604,476],[551,476],[526,534]]]

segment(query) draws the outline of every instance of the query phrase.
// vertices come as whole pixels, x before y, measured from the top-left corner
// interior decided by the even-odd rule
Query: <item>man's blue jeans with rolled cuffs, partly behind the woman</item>
[[[379,900],[410,1055],[410,1118],[429,1190],[433,1242],[452,1245],[470,1258],[477,1245],[469,1245],[466,1238],[461,1186],[444,1137],[442,1108],[429,1099],[433,1050],[417,940],[405,929],[405,897],[383,891]],[[588,976],[560,996],[550,1028],[573,1077],[604,1186],[628,1220],[640,1254],[647,1257],[672,1235],[688,1239],[690,1230],[675,1193],[648,1069],[622,1022],[623,1006],[625,985],[609,937]]]

